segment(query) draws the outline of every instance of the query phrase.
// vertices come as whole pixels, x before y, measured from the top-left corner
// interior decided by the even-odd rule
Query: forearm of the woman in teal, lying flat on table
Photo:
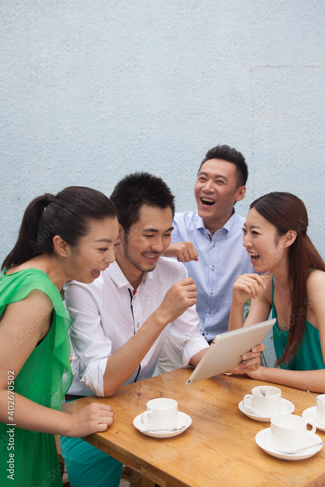
[[[274,367],[259,367],[249,376],[266,382],[295,387],[304,391],[325,393],[325,369],[320,370],[287,370]]]

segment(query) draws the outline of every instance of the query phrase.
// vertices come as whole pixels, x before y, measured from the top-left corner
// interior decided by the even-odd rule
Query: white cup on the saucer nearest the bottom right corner
[[[311,431],[307,430],[310,424]],[[271,418],[271,445],[275,450],[292,453],[306,446],[306,439],[316,431],[316,426],[301,416],[287,414],[282,418]]]

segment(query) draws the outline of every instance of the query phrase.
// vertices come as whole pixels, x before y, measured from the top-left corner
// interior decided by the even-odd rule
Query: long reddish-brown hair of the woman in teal
[[[306,206],[291,193],[273,192],[261,196],[249,207],[255,208],[277,229],[277,236],[288,230],[297,232],[288,247],[288,279],[290,285],[291,320],[287,346],[277,365],[289,364],[296,356],[304,338],[307,312],[307,275],[312,269],[325,271],[322,257],[307,236],[308,215]]]

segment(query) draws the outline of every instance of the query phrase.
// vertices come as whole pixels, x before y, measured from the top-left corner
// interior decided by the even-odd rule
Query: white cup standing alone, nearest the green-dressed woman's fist
[[[167,397],[158,397],[147,402],[147,411],[141,415],[141,423],[151,430],[177,428],[177,402]]]

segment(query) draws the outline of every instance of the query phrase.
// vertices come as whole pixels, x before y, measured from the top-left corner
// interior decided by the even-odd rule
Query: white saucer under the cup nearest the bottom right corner
[[[316,445],[314,448],[309,448],[306,451],[301,451],[300,453],[281,453],[281,451],[275,450],[271,446],[271,428],[267,428],[266,430],[259,431],[255,436],[255,441],[262,450],[266,451],[269,455],[275,456],[276,458],[281,458],[282,460],[304,460],[305,458],[309,458],[319,450],[322,449],[323,445],[316,445],[316,443],[322,443],[322,438],[320,438],[317,434],[312,433],[307,436],[305,447],[309,445]]]

